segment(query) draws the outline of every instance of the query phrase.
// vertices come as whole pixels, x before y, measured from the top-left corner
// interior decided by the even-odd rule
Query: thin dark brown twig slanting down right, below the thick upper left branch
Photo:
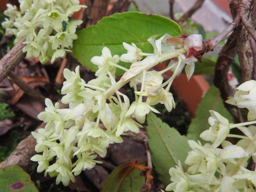
[[[20,87],[20,89],[22,89],[29,96],[34,97],[42,103],[45,102],[45,97],[43,95],[32,89],[25,81],[23,81],[19,76],[14,74],[12,71],[8,74],[8,76],[11,78],[11,81],[13,83],[17,84]]]

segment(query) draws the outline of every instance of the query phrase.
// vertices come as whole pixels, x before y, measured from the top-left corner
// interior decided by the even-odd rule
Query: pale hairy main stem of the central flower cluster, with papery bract
[[[151,69],[152,67],[156,66],[157,64],[162,63],[162,62],[164,62],[166,60],[178,57],[180,54],[185,54],[185,53],[187,53],[187,51],[188,51],[187,49],[181,48],[181,49],[177,49],[175,51],[169,52],[169,53],[164,53],[164,54],[160,55],[154,63],[150,63],[144,69],[146,71],[148,71],[148,69]],[[123,87],[125,84],[127,84],[132,78],[135,78],[136,76],[139,76],[144,69],[142,68],[140,73],[138,73],[137,75],[134,75],[133,77],[131,77],[128,80],[124,81],[124,79],[121,78],[116,84],[114,84],[112,87],[110,87],[103,94],[106,96],[106,98],[110,97],[116,91],[118,91],[121,87]]]

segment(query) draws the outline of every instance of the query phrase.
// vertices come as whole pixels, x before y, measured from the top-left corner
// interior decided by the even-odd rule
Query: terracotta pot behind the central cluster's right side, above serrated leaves
[[[165,63],[161,63],[156,68],[160,71],[165,69],[166,65]],[[172,72],[167,71],[164,73],[164,76],[170,78]],[[180,76],[173,80],[172,88],[186,103],[191,116],[195,117],[196,108],[203,94],[209,90],[210,86],[201,75],[193,75],[188,81],[186,74],[180,74]]]

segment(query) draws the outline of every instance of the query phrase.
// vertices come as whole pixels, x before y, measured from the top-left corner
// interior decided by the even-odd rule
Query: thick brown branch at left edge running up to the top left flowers
[[[0,60],[0,82],[25,58],[26,54],[22,52],[22,49],[26,46],[26,44],[23,44],[25,40],[26,38],[22,38],[21,41]]]

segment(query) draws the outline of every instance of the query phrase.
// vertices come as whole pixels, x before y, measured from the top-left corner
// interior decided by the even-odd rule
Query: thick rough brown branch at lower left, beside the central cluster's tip
[[[43,128],[45,123],[40,124],[38,129]],[[20,141],[17,148],[8,156],[3,162],[0,163],[0,169],[8,165],[18,165],[23,169],[27,169],[31,164],[30,158],[36,154],[35,151],[36,139],[30,134],[28,137]]]

